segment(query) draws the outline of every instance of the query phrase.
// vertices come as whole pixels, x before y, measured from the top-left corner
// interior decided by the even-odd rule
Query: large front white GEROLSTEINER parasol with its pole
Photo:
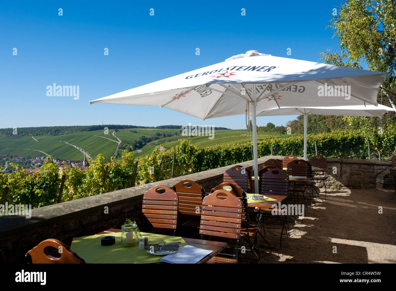
[[[137,72],[138,73],[138,72]],[[282,107],[377,106],[387,73],[274,57],[257,51],[228,58],[89,103],[154,105],[191,116],[215,118],[246,113],[253,125],[253,171],[257,179],[256,112]]]

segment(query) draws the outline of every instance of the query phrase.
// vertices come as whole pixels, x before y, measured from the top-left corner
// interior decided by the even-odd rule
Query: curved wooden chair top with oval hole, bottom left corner
[[[59,254],[60,257],[55,257],[54,254]],[[33,264],[85,264],[85,261],[65,243],[54,238],[40,242],[28,251],[25,257]]]

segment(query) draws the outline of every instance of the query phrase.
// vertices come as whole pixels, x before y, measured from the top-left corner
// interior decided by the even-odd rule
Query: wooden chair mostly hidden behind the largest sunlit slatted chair
[[[251,255],[254,253],[257,261],[260,263],[260,248],[259,248],[259,242],[257,240],[257,234],[261,233],[259,232],[260,226],[257,226],[257,224],[253,224],[250,216],[249,216],[249,210],[247,207],[247,196],[244,190],[241,188],[238,188],[237,186],[231,184],[231,183],[221,183],[220,185],[214,187],[211,190],[211,193],[217,191],[217,190],[223,190],[224,186],[230,186],[231,191],[228,191],[229,193],[233,194],[234,196],[238,197],[239,199],[242,200],[243,203],[243,209],[242,209],[242,228],[241,228],[241,234],[242,237],[246,240],[246,242],[249,245],[250,249],[247,249],[251,251],[250,256],[249,256],[249,262],[251,259]],[[261,235],[262,236],[262,235]],[[251,242],[251,238],[253,238],[253,243]],[[265,238],[264,238],[265,239]],[[257,249],[257,251],[256,251]]]

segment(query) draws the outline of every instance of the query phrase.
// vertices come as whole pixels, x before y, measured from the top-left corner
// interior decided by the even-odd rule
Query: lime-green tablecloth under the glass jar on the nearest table
[[[164,236],[146,232],[141,232],[141,235],[143,237],[148,236],[148,243],[181,242],[182,247],[187,245],[183,238],[179,236]],[[108,246],[101,245],[101,238],[103,236],[115,236],[116,243]],[[139,251],[139,243],[134,247],[122,247],[121,232],[73,238],[70,249],[84,259],[87,264],[156,263],[160,262],[160,259],[163,257],[146,253],[146,250]]]

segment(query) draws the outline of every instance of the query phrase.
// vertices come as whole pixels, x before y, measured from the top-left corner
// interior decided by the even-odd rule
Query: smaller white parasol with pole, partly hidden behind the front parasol
[[[396,109],[379,104],[374,105],[350,105],[333,107],[282,107],[263,110],[257,116],[285,116],[285,115],[304,115],[304,160],[307,160],[307,128],[308,115],[341,115],[341,116],[376,116],[381,117],[386,112],[395,112]]]

